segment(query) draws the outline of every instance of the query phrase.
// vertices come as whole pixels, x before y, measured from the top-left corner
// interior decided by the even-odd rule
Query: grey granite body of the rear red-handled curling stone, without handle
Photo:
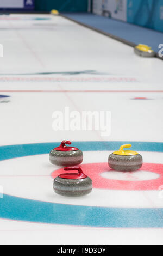
[[[59,151],[51,150],[49,160],[57,166],[76,166],[83,162],[83,152],[81,150]]]

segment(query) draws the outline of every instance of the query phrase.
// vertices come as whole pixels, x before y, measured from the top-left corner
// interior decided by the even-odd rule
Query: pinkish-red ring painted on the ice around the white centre
[[[93,188],[108,190],[158,190],[158,188],[163,185],[163,164],[158,163],[143,163],[140,170],[159,174],[159,178],[142,181],[111,180],[103,178],[101,176],[102,173],[112,171],[108,163],[82,164],[82,169],[83,172],[92,179]],[[52,173],[52,178],[56,178],[61,173],[64,173],[63,168],[55,170]]]

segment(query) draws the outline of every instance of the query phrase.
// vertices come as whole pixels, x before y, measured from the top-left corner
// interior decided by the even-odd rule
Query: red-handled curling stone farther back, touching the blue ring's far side
[[[49,160],[57,166],[77,166],[83,162],[83,152],[78,148],[68,147],[70,141],[62,141],[60,146],[51,150]]]

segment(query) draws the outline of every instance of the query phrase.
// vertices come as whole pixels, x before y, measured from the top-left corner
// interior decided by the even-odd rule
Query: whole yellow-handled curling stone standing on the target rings
[[[130,172],[142,167],[143,160],[140,154],[132,150],[123,150],[130,147],[131,144],[122,145],[118,151],[109,155],[108,164],[111,169]]]

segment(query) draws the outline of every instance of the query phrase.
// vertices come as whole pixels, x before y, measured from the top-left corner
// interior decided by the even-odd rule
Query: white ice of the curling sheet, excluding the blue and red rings
[[[140,58],[133,48],[62,17],[50,16],[51,20],[42,21],[34,17],[49,16],[0,17],[0,43],[4,46],[0,94],[11,96],[9,103],[0,101],[1,145],[59,142],[63,138],[162,142],[161,60]],[[40,74],[85,70],[93,72]],[[149,100],[131,100],[135,97]],[[111,111],[111,135],[102,137],[97,131],[54,132],[52,113],[63,111],[65,106],[79,112]],[[109,153],[86,152],[84,163],[104,162]],[[162,153],[142,154],[145,162],[162,163]],[[61,198],[52,190],[49,173],[55,167],[48,163],[48,155],[2,161],[0,169],[4,193],[14,196],[81,205],[162,207],[158,191],[95,189],[90,197],[78,201]],[[141,173],[139,179],[145,179]],[[68,245],[78,244],[79,238],[83,245],[163,244],[163,229],[85,228],[8,220],[0,223],[1,244]]]

